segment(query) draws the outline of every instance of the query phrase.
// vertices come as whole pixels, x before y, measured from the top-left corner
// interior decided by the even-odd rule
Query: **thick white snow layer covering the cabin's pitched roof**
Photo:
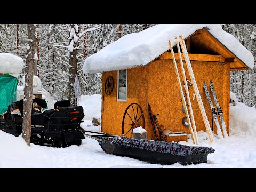
[[[220,24],[161,24],[139,33],[127,34],[104,47],[84,61],[83,72],[98,73],[147,65],[170,49],[169,38],[174,46],[177,35],[182,35],[185,39],[204,27],[208,27],[210,29],[208,32],[233,52],[246,66],[251,69],[254,67],[252,53],[233,35],[224,31]]]

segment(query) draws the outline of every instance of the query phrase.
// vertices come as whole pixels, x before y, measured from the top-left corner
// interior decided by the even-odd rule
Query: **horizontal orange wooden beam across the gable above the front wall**
[[[179,53],[174,53],[176,60],[180,60]],[[181,53],[182,60],[185,60],[184,54]],[[222,55],[208,55],[208,54],[188,54],[191,61],[213,61],[213,62],[224,62],[225,58]],[[162,59],[172,59],[172,54],[170,52],[163,53],[160,57]]]

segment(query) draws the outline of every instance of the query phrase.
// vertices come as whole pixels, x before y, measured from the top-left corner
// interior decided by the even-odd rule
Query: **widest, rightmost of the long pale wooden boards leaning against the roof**
[[[206,127],[206,131],[207,131],[210,143],[212,143],[213,142],[213,134],[212,134],[211,126],[209,124],[209,121],[208,121],[208,118],[207,118],[207,115],[206,115],[206,112],[205,112],[205,109],[204,109],[203,101],[201,99],[201,95],[200,95],[199,90],[198,90],[198,86],[197,86],[196,79],[195,79],[195,76],[194,76],[194,73],[193,73],[193,69],[192,69],[192,66],[191,66],[191,63],[190,63],[190,60],[189,60],[189,57],[188,57],[188,52],[186,50],[186,45],[185,45],[185,42],[184,42],[184,39],[183,39],[182,36],[180,36],[180,45],[181,45],[182,52],[185,56],[185,61],[186,61],[186,64],[187,64],[188,73],[189,73],[190,79],[193,83],[193,88],[194,88],[194,91],[195,91],[195,94],[196,94],[196,99],[197,99],[197,102],[198,102],[198,106],[200,108],[200,111],[201,111],[201,114],[202,114],[202,117],[203,117],[203,121],[204,121],[204,124],[205,124],[205,127]]]

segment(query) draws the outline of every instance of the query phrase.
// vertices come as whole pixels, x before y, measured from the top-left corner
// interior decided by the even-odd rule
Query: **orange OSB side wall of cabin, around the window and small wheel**
[[[114,89],[110,95],[106,95],[104,89],[108,76],[114,78]],[[105,133],[122,135],[122,120],[125,109],[131,103],[138,103],[143,110],[145,122],[147,116],[147,67],[136,67],[127,70],[127,102],[117,101],[117,71],[102,73],[102,124],[101,129]]]

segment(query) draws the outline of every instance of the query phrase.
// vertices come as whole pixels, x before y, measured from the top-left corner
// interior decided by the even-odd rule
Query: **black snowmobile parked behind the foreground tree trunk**
[[[33,99],[33,103],[46,108],[47,103],[43,101],[39,98]],[[19,136],[22,133],[22,114],[23,99],[11,103],[7,107],[7,111],[0,115],[0,129]],[[50,147],[79,146],[82,139],[85,139],[80,126],[83,118],[83,107],[70,106],[69,100],[57,101],[54,104],[54,109],[43,112],[33,109],[30,142]]]

